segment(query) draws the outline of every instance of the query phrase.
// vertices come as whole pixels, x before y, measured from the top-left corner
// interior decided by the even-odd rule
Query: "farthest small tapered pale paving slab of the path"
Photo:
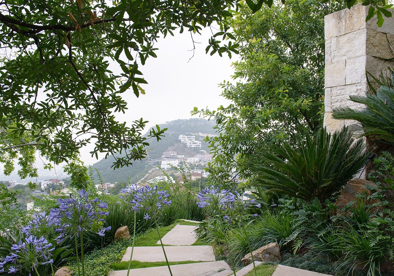
[[[197,241],[197,234],[194,232],[196,228],[195,225],[177,224],[162,237],[162,242],[164,245],[192,245]],[[160,245],[160,241],[157,244]]]

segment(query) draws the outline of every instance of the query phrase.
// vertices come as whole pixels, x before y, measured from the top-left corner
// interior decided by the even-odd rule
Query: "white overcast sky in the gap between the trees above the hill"
[[[215,31],[215,30],[214,30]],[[203,30],[203,35],[195,35],[196,43],[194,52],[190,33],[175,33],[175,36],[167,36],[160,39],[154,46],[157,58],[149,57],[144,66],[139,70],[143,78],[149,84],[143,85],[145,95],[137,98],[132,89],[123,93],[128,103],[125,114],[118,113],[120,121],[132,122],[143,118],[148,120],[146,131],[156,124],[176,119],[191,118],[190,111],[193,107],[216,109],[220,105],[229,104],[229,101],[221,97],[222,89],[218,84],[224,80],[231,80],[234,70],[231,63],[238,57],[234,55],[230,59],[227,55],[220,57],[215,54],[205,54],[205,48],[210,38],[209,29]],[[190,59],[190,61],[189,61]],[[112,62],[113,72],[119,72],[117,63]],[[197,117],[197,116],[194,116]],[[97,162],[92,158],[89,151],[91,146],[82,150],[82,161],[85,165]],[[104,154],[102,155],[102,157]]]

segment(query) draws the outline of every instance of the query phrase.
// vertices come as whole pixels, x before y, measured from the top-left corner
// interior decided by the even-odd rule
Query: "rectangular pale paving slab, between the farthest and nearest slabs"
[[[210,245],[164,246],[168,261],[215,261],[214,251]],[[122,261],[130,259],[131,247],[128,247]],[[136,261],[165,261],[161,246],[134,247],[133,260]]]

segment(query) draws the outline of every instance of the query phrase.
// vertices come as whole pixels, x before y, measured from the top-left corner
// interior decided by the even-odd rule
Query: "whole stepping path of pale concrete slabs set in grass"
[[[186,220],[190,221],[190,220]],[[191,221],[197,222],[198,221]],[[192,245],[197,241],[195,234],[196,226],[177,224],[162,237],[168,261],[202,261],[200,263],[188,263],[184,265],[171,265],[173,276],[228,276],[234,275],[225,261],[215,261],[212,246]],[[157,242],[160,245],[160,241]],[[131,247],[127,248],[122,261],[130,259]],[[133,260],[136,261],[165,261],[161,246],[136,246],[134,247]],[[256,262],[256,265],[260,262]],[[250,264],[237,272],[237,276],[243,276],[253,270]],[[126,276],[127,270],[111,271],[109,276]],[[130,276],[169,276],[167,266],[147,267],[131,269]],[[329,276],[308,270],[296,269],[278,265],[272,276]]]

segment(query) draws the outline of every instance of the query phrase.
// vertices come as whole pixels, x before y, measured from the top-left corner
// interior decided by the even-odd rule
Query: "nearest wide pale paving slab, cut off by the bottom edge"
[[[135,249],[135,248],[134,248]],[[133,252],[134,256],[134,252]],[[196,276],[198,274],[230,269],[225,261],[211,261],[206,263],[188,263],[184,265],[171,265],[173,276]],[[108,276],[126,276],[127,270],[110,271]],[[147,267],[144,269],[131,269],[129,275],[138,276],[169,276],[167,266]]]

